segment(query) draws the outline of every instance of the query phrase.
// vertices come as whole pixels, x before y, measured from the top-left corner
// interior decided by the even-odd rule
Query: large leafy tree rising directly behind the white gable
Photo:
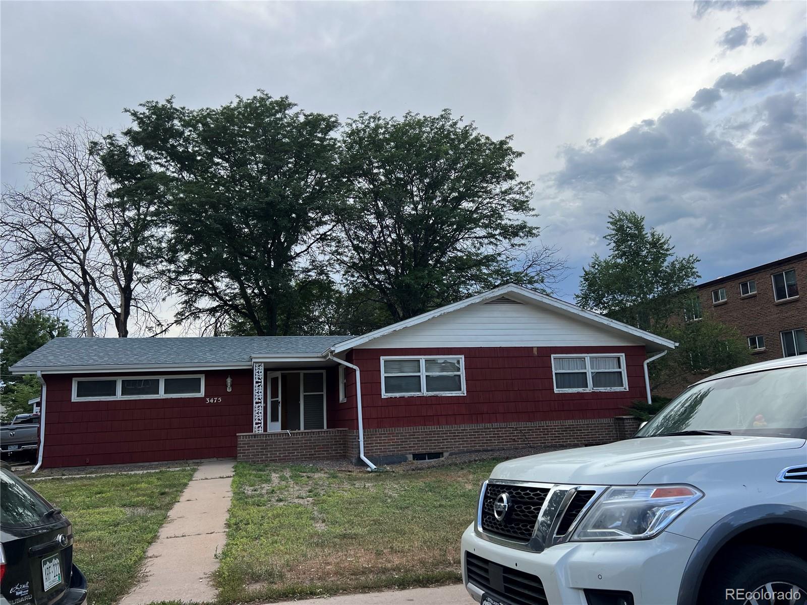
[[[347,186],[335,247],[350,290],[406,319],[506,282],[541,286],[562,261],[529,248],[533,184],[511,138],[491,139],[446,110],[362,114],[341,135]]]

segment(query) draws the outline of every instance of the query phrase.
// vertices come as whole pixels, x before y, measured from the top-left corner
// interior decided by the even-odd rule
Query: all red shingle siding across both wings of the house
[[[625,353],[629,390],[554,393],[550,360],[554,353]],[[380,357],[387,355],[464,355],[466,395],[382,398]],[[611,418],[625,414],[631,401],[645,398],[644,360],[642,346],[365,348],[355,349],[348,357],[362,370],[367,429]],[[347,401],[339,402],[337,372],[333,367],[326,374],[328,428],[356,430],[355,373],[347,371]],[[43,465],[235,457],[236,434],[252,431],[252,372],[199,373],[205,374],[201,398],[82,402],[70,401],[73,376],[46,376]],[[230,393],[225,386],[228,375],[232,376]],[[222,398],[220,403],[206,403],[206,398],[217,397]]]

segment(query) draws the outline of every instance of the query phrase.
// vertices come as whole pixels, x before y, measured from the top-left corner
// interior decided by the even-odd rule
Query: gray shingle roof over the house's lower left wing
[[[54,338],[11,366],[60,367],[249,365],[252,355],[323,353],[353,336],[216,336],[199,338]]]

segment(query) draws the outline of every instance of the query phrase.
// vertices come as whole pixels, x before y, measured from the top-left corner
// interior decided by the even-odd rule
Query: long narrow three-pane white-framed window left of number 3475
[[[204,374],[73,378],[73,401],[203,396]]]

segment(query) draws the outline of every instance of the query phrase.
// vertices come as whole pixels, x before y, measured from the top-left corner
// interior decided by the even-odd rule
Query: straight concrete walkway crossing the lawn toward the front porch
[[[230,460],[199,465],[146,551],[144,578],[120,605],[215,600],[210,574],[219,566],[215,554],[224,547],[234,465]]]

